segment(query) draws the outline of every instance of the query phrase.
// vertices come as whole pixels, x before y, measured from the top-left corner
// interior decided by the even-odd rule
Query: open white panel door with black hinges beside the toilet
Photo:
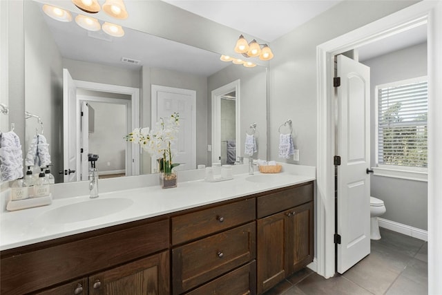
[[[338,273],[370,253],[369,67],[338,56]]]

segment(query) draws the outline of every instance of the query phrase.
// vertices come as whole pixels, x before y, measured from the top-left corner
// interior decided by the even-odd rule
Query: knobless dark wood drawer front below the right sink
[[[289,189],[282,189],[257,198],[258,218],[313,201],[313,182],[300,184]]]

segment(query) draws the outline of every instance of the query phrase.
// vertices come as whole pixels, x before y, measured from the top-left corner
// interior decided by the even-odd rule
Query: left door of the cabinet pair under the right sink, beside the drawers
[[[289,212],[258,219],[258,294],[270,289],[289,274]]]

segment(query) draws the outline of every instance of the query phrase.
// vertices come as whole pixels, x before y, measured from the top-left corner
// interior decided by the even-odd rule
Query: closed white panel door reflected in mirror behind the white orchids
[[[173,146],[177,153],[172,160],[180,166],[173,170],[196,169],[196,91],[153,85],[152,99],[152,126],[161,117],[167,120],[173,113],[180,113],[180,132],[177,144]]]

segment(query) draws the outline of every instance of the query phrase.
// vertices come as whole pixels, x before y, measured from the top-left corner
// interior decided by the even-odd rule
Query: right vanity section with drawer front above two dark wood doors
[[[309,188],[300,187],[307,191]],[[295,190],[296,191],[296,190]],[[313,191],[309,196],[302,198],[287,198],[290,191],[282,191],[280,194],[262,197],[258,201],[258,216],[260,216],[260,204],[265,213],[273,213],[270,216],[257,220],[257,289],[262,294],[281,280],[305,267],[313,261],[314,256],[314,206]],[[300,204],[285,211],[274,213],[281,209],[281,204],[271,204],[271,198],[282,196],[287,204]],[[269,207],[273,207],[273,210]]]

